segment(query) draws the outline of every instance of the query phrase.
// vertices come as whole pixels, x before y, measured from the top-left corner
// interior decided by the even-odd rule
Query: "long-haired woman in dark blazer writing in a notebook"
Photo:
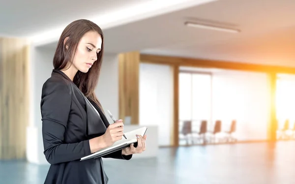
[[[103,45],[101,29],[88,20],[72,22],[59,38],[54,70],[42,88],[44,154],[51,164],[45,184],[108,183],[101,158],[80,161],[123,135],[122,120],[110,125],[94,92]],[[104,157],[129,160],[145,151],[146,138]]]

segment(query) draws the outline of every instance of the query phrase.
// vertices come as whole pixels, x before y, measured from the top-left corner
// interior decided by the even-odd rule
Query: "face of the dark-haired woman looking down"
[[[97,53],[101,50],[102,39],[98,32],[89,31],[80,40],[73,60],[73,66],[83,73],[87,73],[91,65],[97,60]]]

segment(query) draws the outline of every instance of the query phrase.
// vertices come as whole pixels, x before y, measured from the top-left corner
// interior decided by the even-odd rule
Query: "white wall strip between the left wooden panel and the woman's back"
[[[30,119],[27,129],[27,158],[33,163],[46,163],[43,154],[42,122],[40,101],[43,83],[50,77],[53,69],[54,49],[31,49],[31,93],[30,93]]]

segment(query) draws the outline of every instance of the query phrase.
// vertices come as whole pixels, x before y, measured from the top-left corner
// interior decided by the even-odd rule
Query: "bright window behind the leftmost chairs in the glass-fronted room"
[[[179,73],[179,144],[187,143],[190,132],[198,132],[202,120],[211,120],[211,74]],[[188,135],[190,136],[190,135]]]

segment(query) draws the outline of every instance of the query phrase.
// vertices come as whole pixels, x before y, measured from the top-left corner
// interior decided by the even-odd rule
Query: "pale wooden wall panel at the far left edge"
[[[0,38],[0,159],[26,157],[29,123],[29,46]]]

